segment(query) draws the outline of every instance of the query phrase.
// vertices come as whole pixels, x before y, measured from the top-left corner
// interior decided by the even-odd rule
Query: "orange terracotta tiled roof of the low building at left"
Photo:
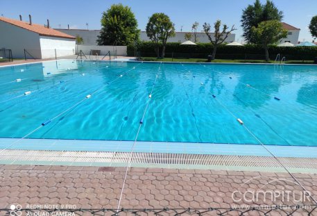
[[[12,24],[14,26],[18,26],[20,28],[24,28],[28,31],[33,31],[33,32],[38,33],[39,35],[42,35],[42,36],[75,39],[74,36],[67,35],[67,34],[62,33],[60,31],[56,31],[53,28],[46,28],[46,27],[39,25],[39,24],[30,25],[28,22],[23,22],[23,21],[19,21],[17,19],[10,19],[10,18],[6,18],[6,17],[0,17],[0,21],[6,22],[8,24]]]

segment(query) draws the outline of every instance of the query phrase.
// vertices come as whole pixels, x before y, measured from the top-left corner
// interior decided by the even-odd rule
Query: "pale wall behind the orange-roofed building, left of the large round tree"
[[[76,37],[80,35],[83,38],[83,45],[97,45],[96,40],[98,39],[97,36],[100,34],[100,30],[85,30],[85,29],[60,29],[55,28],[58,31],[63,33],[67,33],[67,35],[72,35]]]

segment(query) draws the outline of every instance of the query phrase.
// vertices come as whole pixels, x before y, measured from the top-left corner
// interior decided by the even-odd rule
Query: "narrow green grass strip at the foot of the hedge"
[[[155,58],[144,57],[144,61],[157,61],[157,62],[185,62],[185,63],[207,63],[205,58]],[[265,60],[231,60],[231,59],[215,59],[212,63],[275,63],[274,60],[266,62]],[[313,60],[288,60],[286,64],[313,64]]]

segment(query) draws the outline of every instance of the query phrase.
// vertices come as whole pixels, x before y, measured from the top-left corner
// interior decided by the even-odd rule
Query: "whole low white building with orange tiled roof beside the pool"
[[[75,37],[52,28],[0,17],[0,48],[11,49],[13,58],[55,58],[74,55]],[[56,49],[56,52],[55,52]]]

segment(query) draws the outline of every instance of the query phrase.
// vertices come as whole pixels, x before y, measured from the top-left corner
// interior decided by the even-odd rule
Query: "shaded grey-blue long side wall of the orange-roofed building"
[[[0,48],[12,49],[13,58],[24,58],[24,49],[42,58],[39,38],[37,33],[0,21]]]

